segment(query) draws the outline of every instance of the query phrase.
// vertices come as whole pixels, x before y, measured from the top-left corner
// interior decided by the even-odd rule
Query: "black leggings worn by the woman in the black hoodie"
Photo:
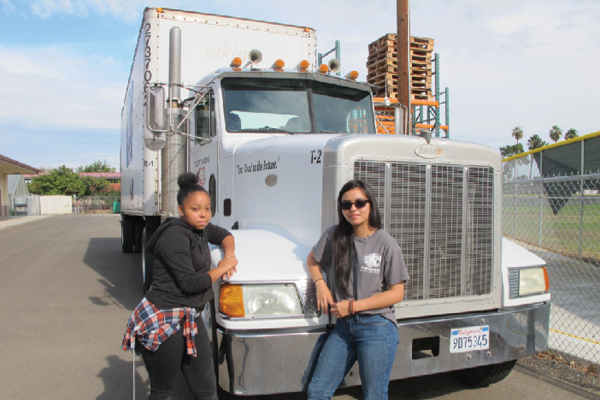
[[[136,343],[136,346],[141,349],[150,376],[151,390],[148,400],[173,399],[180,369],[196,399],[218,400],[208,334],[202,318],[196,318],[196,324],[198,326],[196,357],[187,354],[183,327],[165,340],[156,351],[149,351],[139,342]]]

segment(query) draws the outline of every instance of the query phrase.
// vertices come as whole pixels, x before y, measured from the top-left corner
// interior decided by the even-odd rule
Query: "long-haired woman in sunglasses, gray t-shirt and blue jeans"
[[[399,342],[394,304],[404,298],[408,272],[398,243],[381,229],[379,209],[366,183],[346,183],[337,211],[338,225],[325,231],[307,258],[319,310],[337,317],[309,383],[308,399],[331,399],[356,361],[364,399],[387,399]]]

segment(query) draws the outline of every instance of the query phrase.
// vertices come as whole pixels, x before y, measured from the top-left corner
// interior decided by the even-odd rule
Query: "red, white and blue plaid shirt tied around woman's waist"
[[[127,322],[127,329],[123,337],[121,348],[134,350],[135,339],[150,351],[158,347],[180,328],[179,321],[183,321],[183,336],[186,338],[187,353],[196,357],[196,333],[198,328],[195,321],[195,310],[191,307],[172,308],[161,310],[145,297],[133,310]]]

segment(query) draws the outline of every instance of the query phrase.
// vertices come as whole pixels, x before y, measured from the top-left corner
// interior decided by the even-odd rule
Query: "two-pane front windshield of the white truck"
[[[223,80],[228,132],[374,133],[369,92],[300,79]]]

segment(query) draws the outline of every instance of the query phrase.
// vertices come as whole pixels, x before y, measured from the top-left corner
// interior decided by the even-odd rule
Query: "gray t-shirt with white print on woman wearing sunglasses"
[[[327,229],[312,248],[312,252],[315,260],[327,272],[329,281],[333,281],[333,295],[336,302],[344,299],[366,299],[409,279],[402,250],[396,239],[382,229],[378,229],[367,238],[354,236],[356,259],[350,274],[348,284],[350,293],[347,296],[335,282],[335,274],[332,270],[334,262],[331,243],[334,231],[335,226]],[[390,321],[396,322],[394,306],[362,311],[360,314],[380,314]]]

